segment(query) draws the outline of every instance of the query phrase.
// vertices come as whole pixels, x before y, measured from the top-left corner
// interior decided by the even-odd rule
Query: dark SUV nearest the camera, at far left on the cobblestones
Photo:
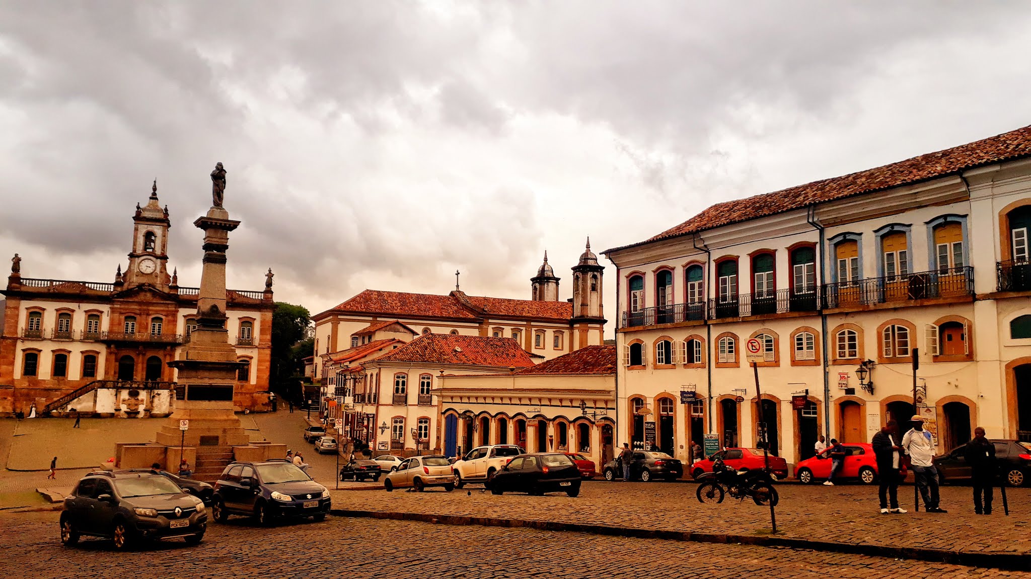
[[[110,538],[125,550],[140,539],[182,537],[195,545],[204,538],[204,503],[169,479],[151,472],[94,472],[65,498],[61,542],[74,545],[82,535]]]

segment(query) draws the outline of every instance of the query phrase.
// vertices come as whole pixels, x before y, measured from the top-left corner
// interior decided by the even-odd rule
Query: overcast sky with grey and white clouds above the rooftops
[[[196,285],[221,161],[231,287],[529,298],[546,248],[565,299],[588,235],[1031,124],[1028,30],[1019,1],[0,0],[0,253],[109,281],[157,177]]]

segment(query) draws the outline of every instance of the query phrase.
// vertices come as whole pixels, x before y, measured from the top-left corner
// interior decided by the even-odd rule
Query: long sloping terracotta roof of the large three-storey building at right
[[[801,209],[817,203],[925,181],[1023,157],[1031,157],[1031,126],[858,173],[718,203],[645,241],[606,249],[603,253]]]

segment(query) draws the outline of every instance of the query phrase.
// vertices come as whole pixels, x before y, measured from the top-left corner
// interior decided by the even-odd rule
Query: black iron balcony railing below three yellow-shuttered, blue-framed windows
[[[973,268],[962,267],[828,283],[824,286],[823,307],[832,309],[972,295]]]

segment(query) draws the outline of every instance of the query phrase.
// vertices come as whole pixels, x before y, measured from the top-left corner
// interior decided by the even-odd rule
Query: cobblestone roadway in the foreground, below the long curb
[[[804,549],[336,517],[270,529],[231,518],[209,525],[204,542],[195,547],[170,541],[125,554],[100,540],[63,547],[58,516],[0,513],[0,550],[5,554],[0,573],[39,579],[1031,578],[1024,572]]]

